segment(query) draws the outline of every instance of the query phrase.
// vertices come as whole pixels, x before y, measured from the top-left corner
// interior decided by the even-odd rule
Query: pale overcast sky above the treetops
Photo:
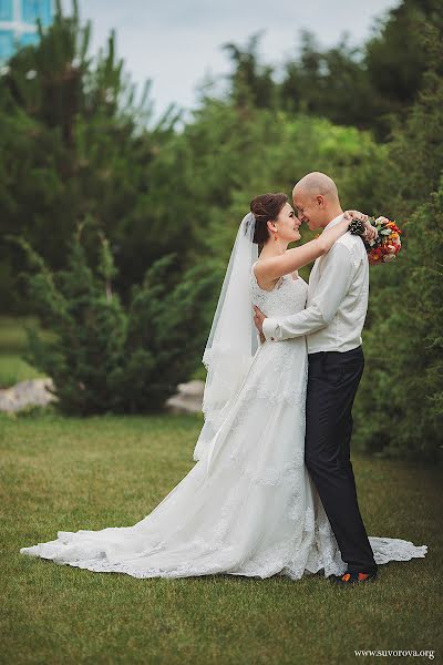
[[[64,0],[66,9],[71,0]],[[92,47],[103,45],[116,30],[117,53],[134,82],[152,80],[156,114],[176,102],[188,109],[205,75],[229,71],[220,49],[246,45],[264,30],[260,53],[279,63],[297,52],[300,30],[313,32],[322,45],[348,32],[364,41],[374,20],[399,0],[80,0],[82,19],[93,24]]]

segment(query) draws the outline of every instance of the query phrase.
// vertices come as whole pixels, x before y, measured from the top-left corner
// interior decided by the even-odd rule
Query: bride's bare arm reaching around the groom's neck
[[[368,218],[367,215],[358,213],[357,211],[352,211],[352,213],[363,221]],[[279,277],[289,275],[312,260],[316,260],[316,258],[323,256],[323,254],[329,252],[336,241],[347,233],[351,218],[349,213],[343,213],[343,219],[332,226],[332,228],[324,231],[320,237],[310,241],[309,243],[305,243],[305,245],[301,245],[300,247],[287,249],[281,256],[272,256],[262,259],[262,262],[256,264],[255,267],[257,279],[262,283],[275,282]]]

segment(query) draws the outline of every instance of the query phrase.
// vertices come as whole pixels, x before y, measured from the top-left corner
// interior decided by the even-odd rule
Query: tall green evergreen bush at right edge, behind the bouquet
[[[435,461],[443,446],[443,68],[430,29],[429,71],[388,146],[380,209],[404,227],[394,264],[371,269],[367,369],[356,403],[370,452]]]

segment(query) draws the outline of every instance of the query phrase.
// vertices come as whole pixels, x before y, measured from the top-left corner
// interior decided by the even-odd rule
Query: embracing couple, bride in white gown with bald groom
[[[377,232],[343,213],[324,174],[305,176],[292,198],[298,215],[285,194],[257,196],[239,226],[203,357],[189,473],[132,526],[59,531],[21,553],[134,577],[320,573],[340,585],[425,555],[368,538],[350,460],[369,264],[348,226],[357,217],[368,239]],[[302,222],[321,235],[288,249]],[[308,285],[298,270],[311,262]]]

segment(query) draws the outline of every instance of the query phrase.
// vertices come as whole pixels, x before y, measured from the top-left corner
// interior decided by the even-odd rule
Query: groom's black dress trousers
[[[308,358],[306,466],[349,572],[374,572],[350,460],[351,410],[363,374],[363,350],[319,351]]]

